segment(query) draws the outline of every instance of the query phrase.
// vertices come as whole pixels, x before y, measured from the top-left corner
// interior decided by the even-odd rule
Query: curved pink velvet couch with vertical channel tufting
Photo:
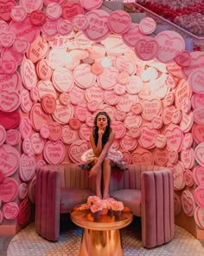
[[[60,215],[85,203],[94,194],[94,181],[75,164],[41,167],[36,173],[35,230],[47,240],[58,240]],[[167,167],[130,165],[112,168],[110,196],[124,202],[142,220],[143,246],[152,248],[174,237],[173,178]]]

